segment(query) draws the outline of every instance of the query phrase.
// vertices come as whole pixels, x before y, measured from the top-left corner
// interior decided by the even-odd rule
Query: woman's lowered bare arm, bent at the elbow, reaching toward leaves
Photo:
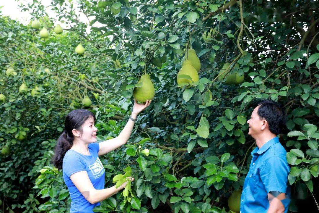
[[[118,188],[115,185],[105,189],[95,189],[86,171],[78,171],[70,176],[73,184],[78,188],[85,199],[91,204],[103,201],[121,191],[128,183],[125,182]],[[132,179],[132,181],[134,178]]]

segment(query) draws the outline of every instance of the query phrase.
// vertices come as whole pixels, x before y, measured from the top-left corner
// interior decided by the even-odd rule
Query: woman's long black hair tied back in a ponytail
[[[93,117],[95,122],[95,115],[89,110],[78,109],[72,110],[65,118],[65,131],[59,136],[56,147],[54,149],[54,156],[52,158],[53,165],[57,169],[62,169],[63,157],[65,153],[72,147],[74,135],[73,129],[80,133],[83,131],[83,124],[89,118]]]

